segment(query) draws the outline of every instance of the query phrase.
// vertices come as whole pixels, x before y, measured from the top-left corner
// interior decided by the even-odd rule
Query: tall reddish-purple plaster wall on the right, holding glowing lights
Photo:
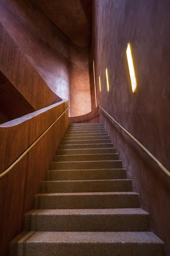
[[[170,169],[170,1],[93,4],[95,74],[96,80],[102,78],[101,92],[96,82],[97,103]],[[126,77],[128,41],[140,80],[136,94]],[[140,194],[141,207],[150,213],[153,232],[170,255],[170,178],[105,114],[101,118]]]

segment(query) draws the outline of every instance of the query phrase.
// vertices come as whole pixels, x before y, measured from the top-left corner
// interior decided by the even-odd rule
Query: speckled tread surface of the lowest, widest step
[[[12,241],[24,243],[159,243],[153,232],[50,232],[23,231]]]

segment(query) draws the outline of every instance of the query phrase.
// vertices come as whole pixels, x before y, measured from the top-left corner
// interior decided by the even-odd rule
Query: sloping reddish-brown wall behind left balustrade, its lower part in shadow
[[[7,84],[5,84],[6,82]],[[47,86],[42,76],[36,71],[1,23],[0,89],[0,100],[2,103],[0,108],[2,111],[5,111],[7,115],[13,106],[13,102],[18,101],[17,104],[20,105],[20,110],[21,108],[26,109],[25,115],[62,100]],[[25,106],[23,106],[24,101],[26,102]],[[8,109],[6,108],[7,104],[9,105]],[[14,114],[17,115],[17,111]],[[23,112],[20,111],[19,114],[20,115],[15,117],[23,115]],[[11,117],[14,117],[14,115],[11,115]]]

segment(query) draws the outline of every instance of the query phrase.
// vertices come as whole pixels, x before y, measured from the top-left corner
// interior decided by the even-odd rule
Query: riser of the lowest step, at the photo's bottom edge
[[[89,241],[90,242],[90,241]],[[20,251],[20,254],[17,252]],[[15,254],[16,252],[16,254]],[[107,252],[107,254],[106,254]],[[153,243],[13,243],[17,256],[163,256],[163,245]],[[13,254],[14,253],[14,254]]]

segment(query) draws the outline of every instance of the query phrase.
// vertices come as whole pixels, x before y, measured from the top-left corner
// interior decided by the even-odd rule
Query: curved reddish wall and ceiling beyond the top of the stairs
[[[89,6],[92,3],[84,5],[85,10]],[[13,59],[15,55],[10,55],[7,45],[17,47],[52,92],[69,99],[70,116],[90,112],[95,107],[94,83],[90,83],[92,69],[89,71],[91,8],[86,17],[79,0],[65,0],[63,5],[59,0],[53,0],[52,4],[48,0],[13,0],[13,4],[0,0],[0,7],[0,22],[9,34],[6,41],[1,36],[5,55]],[[71,7],[72,15],[68,16],[64,11]],[[80,30],[83,32],[79,33]],[[26,71],[20,73],[28,75]]]

